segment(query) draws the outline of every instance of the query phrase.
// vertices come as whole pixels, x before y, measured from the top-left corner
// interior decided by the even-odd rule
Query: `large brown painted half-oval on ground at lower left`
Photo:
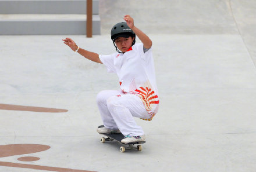
[[[48,145],[38,144],[0,145],[0,158],[13,155],[23,155],[28,153],[46,151],[49,148],[51,147],[49,147]]]

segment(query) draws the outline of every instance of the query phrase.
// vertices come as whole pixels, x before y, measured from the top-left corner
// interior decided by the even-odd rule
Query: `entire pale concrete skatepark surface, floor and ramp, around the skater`
[[[102,35],[0,36],[0,171],[254,172],[256,1],[99,1]],[[143,151],[100,142],[96,96],[116,75],[62,43],[115,52],[130,14],[153,42],[160,97]],[[140,42],[137,39],[137,42]]]

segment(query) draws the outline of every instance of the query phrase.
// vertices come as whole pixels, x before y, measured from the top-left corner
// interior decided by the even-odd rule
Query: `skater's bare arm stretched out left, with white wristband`
[[[71,38],[62,39],[62,41],[64,41],[63,43],[65,43],[67,46],[69,46],[70,49],[72,49],[73,51],[76,51],[78,49],[78,46]],[[88,60],[102,64],[101,60],[99,59],[99,54],[97,54],[97,53],[89,52],[85,49],[81,49],[80,47],[79,47],[79,50],[77,51],[77,53],[86,57]]]

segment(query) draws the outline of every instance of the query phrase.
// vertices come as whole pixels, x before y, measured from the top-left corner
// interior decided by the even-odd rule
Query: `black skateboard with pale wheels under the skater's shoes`
[[[104,125],[98,126],[98,128],[102,128],[102,127],[104,127]],[[120,147],[120,152],[125,152],[126,150],[131,150],[131,149],[137,149],[137,151],[142,151],[142,146],[140,144],[145,143],[145,141],[137,141],[137,142],[129,142],[128,144],[123,144],[121,140],[125,138],[125,136],[123,136],[122,133],[116,133],[116,134],[99,133],[99,134],[106,136],[106,138],[105,137],[101,138],[102,143],[104,143],[105,141],[118,141],[120,144],[122,144],[123,146]],[[134,147],[134,145],[137,145],[137,147]]]

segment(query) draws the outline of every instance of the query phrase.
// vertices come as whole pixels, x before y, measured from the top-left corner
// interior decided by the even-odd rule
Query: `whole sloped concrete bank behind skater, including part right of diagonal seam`
[[[99,1],[102,32],[125,14],[148,34],[239,34],[256,58],[256,3],[241,0],[209,1]]]

